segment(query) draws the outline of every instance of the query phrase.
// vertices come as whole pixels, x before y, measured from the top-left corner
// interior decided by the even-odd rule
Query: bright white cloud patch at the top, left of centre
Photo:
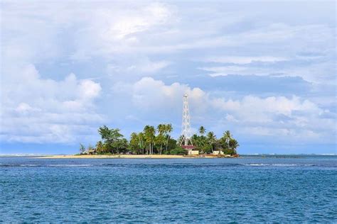
[[[73,60],[119,55],[144,55],[151,43],[145,34],[161,37],[165,26],[174,23],[174,9],[162,3],[134,3],[116,7],[95,6],[92,17],[85,20],[84,28],[77,30]],[[95,49],[95,50],[94,50]]]

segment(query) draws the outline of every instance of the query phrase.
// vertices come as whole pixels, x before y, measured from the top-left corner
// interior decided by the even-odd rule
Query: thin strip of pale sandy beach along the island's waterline
[[[221,157],[230,158],[225,155]],[[48,155],[36,157],[41,159],[191,159],[191,158],[218,158],[216,155]]]

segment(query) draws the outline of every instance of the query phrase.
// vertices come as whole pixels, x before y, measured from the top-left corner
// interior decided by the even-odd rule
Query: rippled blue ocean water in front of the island
[[[337,222],[337,156],[0,157],[0,222]]]

